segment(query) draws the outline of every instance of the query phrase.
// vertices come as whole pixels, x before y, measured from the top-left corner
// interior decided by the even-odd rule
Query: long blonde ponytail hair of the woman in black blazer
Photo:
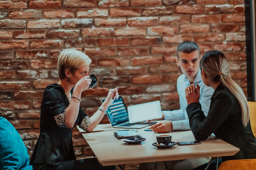
[[[228,69],[228,62],[225,55],[220,51],[210,51],[203,55],[200,61],[200,68],[209,77],[210,81],[222,82],[231,93],[238,99],[242,110],[242,124],[244,126],[249,123],[250,110],[247,103],[247,98],[244,92],[230,77],[230,70]]]

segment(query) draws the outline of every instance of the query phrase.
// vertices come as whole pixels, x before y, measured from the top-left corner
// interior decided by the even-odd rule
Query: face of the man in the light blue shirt
[[[178,57],[179,59],[177,58],[176,60],[178,67],[181,67],[181,72],[183,72],[186,78],[191,83],[193,83],[199,70],[200,55],[198,50],[189,54],[185,52],[179,52]]]

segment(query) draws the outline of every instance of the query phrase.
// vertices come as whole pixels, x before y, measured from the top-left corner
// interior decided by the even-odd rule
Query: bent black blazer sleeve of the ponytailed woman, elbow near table
[[[211,103],[206,118],[203,118],[199,103],[191,103],[187,106],[189,124],[196,140],[207,140],[222,123],[232,115],[232,99],[228,94],[217,94]]]

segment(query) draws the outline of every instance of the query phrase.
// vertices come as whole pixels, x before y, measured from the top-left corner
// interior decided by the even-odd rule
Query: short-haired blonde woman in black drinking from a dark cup
[[[87,132],[100,123],[107,108],[118,98],[118,88],[110,89],[106,100],[90,118],[80,108],[81,94],[94,86],[96,77],[89,77],[92,60],[78,50],[63,50],[58,57],[58,84],[51,84],[43,92],[40,136],[30,164],[33,169],[115,169],[102,166],[97,159],[75,159],[72,132],[75,125]],[[93,81],[93,82],[92,82]]]

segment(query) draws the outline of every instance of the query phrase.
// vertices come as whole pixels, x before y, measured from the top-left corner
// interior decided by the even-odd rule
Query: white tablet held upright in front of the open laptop
[[[128,106],[127,109],[129,123],[138,123],[162,117],[160,101],[132,105]]]

